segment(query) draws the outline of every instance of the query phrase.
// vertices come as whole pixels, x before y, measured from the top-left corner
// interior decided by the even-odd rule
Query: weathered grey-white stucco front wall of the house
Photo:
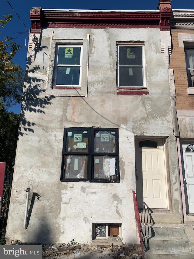
[[[160,11],[154,12],[160,14]],[[89,11],[86,13],[90,15]],[[132,189],[136,190],[138,181],[135,166],[140,161],[135,153],[137,138],[156,142],[160,139],[163,143],[166,187],[159,190],[159,195],[166,195],[166,207],[151,208],[153,222],[182,223],[168,76],[170,32],[159,25],[149,28],[145,24],[145,28],[140,25],[137,28],[42,26],[41,36],[34,32],[38,48],[30,36],[8,238],[41,243],[69,242],[74,238],[79,243],[90,244],[92,224],[107,223],[121,226],[119,235],[124,244],[138,244],[132,198]],[[85,85],[76,90],[56,89],[52,87],[55,70],[52,48],[75,41],[80,41],[85,48],[82,63],[82,71],[87,76]],[[141,42],[144,46],[146,85],[142,89],[118,88],[118,42],[128,45]],[[120,180],[60,181],[64,128],[119,129]],[[24,229],[26,188],[30,188],[30,199],[28,224]]]

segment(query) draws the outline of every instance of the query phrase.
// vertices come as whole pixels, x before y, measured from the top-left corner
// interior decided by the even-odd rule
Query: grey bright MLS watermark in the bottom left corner
[[[42,259],[42,246],[39,245],[12,245],[0,246],[0,258],[34,258]]]

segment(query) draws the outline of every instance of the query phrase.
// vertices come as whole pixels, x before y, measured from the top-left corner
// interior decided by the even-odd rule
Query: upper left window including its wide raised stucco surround
[[[54,32],[51,33],[47,96],[87,98],[89,35],[83,39],[72,39],[73,36],[75,35],[71,34],[69,39],[63,39],[55,36]]]

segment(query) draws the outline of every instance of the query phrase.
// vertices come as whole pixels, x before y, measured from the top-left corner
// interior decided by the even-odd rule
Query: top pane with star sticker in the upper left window
[[[58,46],[58,65],[80,65],[81,47]]]

